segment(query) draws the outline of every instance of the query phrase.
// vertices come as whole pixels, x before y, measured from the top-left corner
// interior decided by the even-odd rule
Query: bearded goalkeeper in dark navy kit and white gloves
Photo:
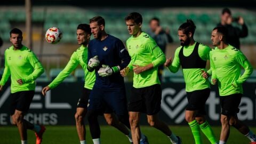
[[[100,127],[97,117],[100,113],[109,117],[114,111],[123,125],[120,123],[117,129],[124,129],[124,126],[130,128],[124,78],[119,74],[119,70],[129,64],[131,57],[120,39],[106,33],[105,20],[102,17],[90,19],[90,28],[94,39],[88,45],[87,69],[95,70],[96,80],[89,97],[88,121],[93,143],[98,144]],[[130,137],[132,143],[130,131],[125,134]],[[143,134],[141,143],[147,143]]]

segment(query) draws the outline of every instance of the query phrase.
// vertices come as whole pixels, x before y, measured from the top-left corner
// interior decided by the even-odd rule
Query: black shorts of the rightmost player
[[[220,96],[221,115],[236,116],[239,112],[238,107],[241,102],[241,98],[241,93]]]

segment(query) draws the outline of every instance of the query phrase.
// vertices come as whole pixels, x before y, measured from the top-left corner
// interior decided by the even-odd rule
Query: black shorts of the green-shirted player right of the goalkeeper
[[[161,110],[162,88],[155,84],[147,87],[132,87],[128,111],[155,115]]]

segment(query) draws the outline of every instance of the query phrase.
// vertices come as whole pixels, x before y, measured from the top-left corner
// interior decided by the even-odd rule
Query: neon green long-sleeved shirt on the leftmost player
[[[44,73],[44,68],[33,51],[22,46],[15,50],[13,46],[5,50],[5,68],[0,85],[4,85],[11,75],[11,93],[35,90],[35,79]],[[19,85],[17,80],[22,79]]]

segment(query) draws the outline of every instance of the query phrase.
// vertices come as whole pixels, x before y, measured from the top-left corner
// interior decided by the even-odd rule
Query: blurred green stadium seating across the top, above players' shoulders
[[[114,10],[113,10],[114,11]],[[147,25],[150,18],[158,17],[162,21],[162,26],[169,27],[171,29],[171,35],[177,35],[177,29],[180,23],[185,22],[188,18],[195,21],[197,26],[197,31],[202,31],[202,33],[195,34],[195,37],[202,38],[202,43],[209,43],[209,34],[213,27],[220,21],[219,11],[201,11],[201,12],[172,12],[172,10],[163,10],[163,11],[154,11],[154,10],[145,10],[143,11],[143,23]],[[77,23],[84,22],[84,20],[89,21],[90,18],[95,15],[102,15],[106,19],[106,30],[115,34],[115,36],[121,38],[123,41],[128,37],[127,31],[125,31],[126,26],[124,22],[125,12],[112,12],[101,11],[57,11],[52,10],[46,12],[45,21],[44,21],[44,12],[39,10],[34,10],[32,15],[33,22],[44,22],[44,28],[49,28],[52,26],[59,27],[60,29],[65,29],[65,35],[63,34],[63,42],[66,43],[75,43],[74,41],[74,29],[76,29]],[[249,31],[252,34],[249,34],[248,37],[241,39],[242,43],[255,44],[255,34],[254,30],[256,27],[256,15],[253,12],[237,12],[234,13],[234,16],[242,15],[245,16],[245,22],[249,27]],[[4,41],[8,41],[9,37],[5,34],[5,31],[10,30],[11,21],[25,21],[26,15],[25,11],[10,11],[3,10],[1,11],[0,18],[3,20],[0,22],[0,35],[3,36]],[[61,19],[59,19],[61,18]],[[148,30],[147,26],[144,26],[145,31]],[[251,29],[251,30],[250,30]],[[64,33],[64,32],[63,32]],[[204,33],[204,34],[203,34]],[[207,35],[207,38],[206,38]],[[174,39],[174,42],[178,42],[177,38]]]

